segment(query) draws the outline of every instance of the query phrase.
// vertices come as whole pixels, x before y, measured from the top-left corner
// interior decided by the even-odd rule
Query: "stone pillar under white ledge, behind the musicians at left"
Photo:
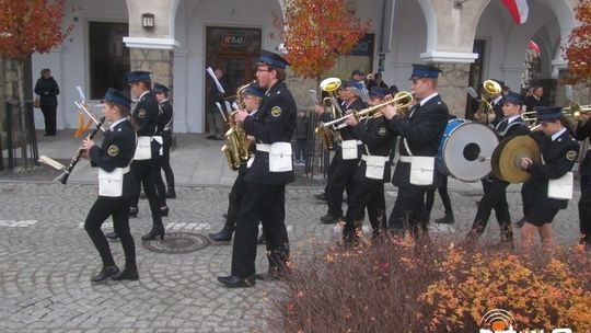
[[[151,71],[152,82],[159,82],[174,91],[172,87],[174,64],[172,50],[131,48],[129,56],[131,70]]]

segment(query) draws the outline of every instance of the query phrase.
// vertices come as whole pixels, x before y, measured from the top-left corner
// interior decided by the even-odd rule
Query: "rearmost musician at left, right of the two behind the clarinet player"
[[[170,89],[160,83],[154,83],[152,89],[160,107],[160,118],[158,120],[158,135],[162,137],[162,157],[160,158],[160,166],[164,171],[166,177],[166,192],[159,191],[159,195],[164,195],[166,198],[176,198],[176,191],[174,190],[174,173],[171,168],[171,147],[172,147],[172,130],[173,130],[173,107],[171,101],[169,101]],[[162,176],[157,181],[161,183],[163,187]]]

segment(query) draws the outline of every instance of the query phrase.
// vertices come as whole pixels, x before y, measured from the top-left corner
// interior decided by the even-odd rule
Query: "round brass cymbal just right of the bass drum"
[[[509,183],[526,182],[531,175],[521,169],[520,160],[522,158],[530,158],[535,162],[540,162],[540,146],[537,146],[537,142],[530,136],[517,136],[507,139],[498,153],[500,179]]]

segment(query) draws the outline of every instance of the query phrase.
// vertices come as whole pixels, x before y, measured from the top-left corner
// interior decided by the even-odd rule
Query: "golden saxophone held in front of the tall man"
[[[244,110],[244,90],[255,81],[243,84],[236,89],[236,104],[240,108]],[[248,138],[242,125],[235,119],[235,112],[228,117],[228,127],[225,131],[225,145],[223,145],[221,151],[225,154],[228,165],[231,170],[239,170],[240,164],[246,162],[251,157],[248,151]]]

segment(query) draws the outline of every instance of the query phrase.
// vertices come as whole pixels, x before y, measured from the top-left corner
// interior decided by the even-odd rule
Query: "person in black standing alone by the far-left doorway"
[[[59,87],[51,77],[51,70],[44,68],[40,71],[40,78],[35,84],[35,93],[39,95],[39,105],[45,118],[45,136],[56,135],[56,113],[57,113],[57,95],[59,95]]]

